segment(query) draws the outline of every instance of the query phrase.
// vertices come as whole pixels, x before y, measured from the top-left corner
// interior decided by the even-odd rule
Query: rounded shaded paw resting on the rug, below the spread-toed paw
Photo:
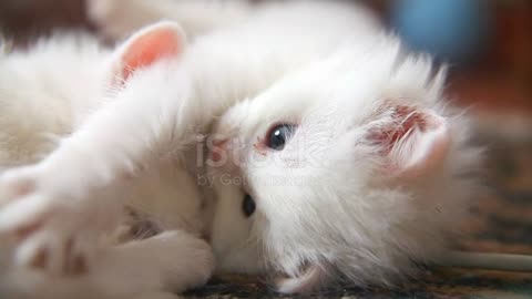
[[[207,282],[215,266],[211,246],[181,230],[110,247],[101,255],[90,280],[110,298],[180,293]]]

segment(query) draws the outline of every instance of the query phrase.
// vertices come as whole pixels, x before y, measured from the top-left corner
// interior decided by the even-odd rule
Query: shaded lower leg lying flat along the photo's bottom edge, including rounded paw
[[[177,299],[175,293],[204,285],[214,270],[211,246],[185,231],[106,247],[91,272],[54,277],[14,269],[0,281],[2,298]],[[3,282],[3,283],[2,283]]]

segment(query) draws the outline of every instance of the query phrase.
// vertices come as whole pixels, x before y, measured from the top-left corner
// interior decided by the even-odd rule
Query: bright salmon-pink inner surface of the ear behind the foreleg
[[[127,80],[135,70],[161,58],[177,54],[182,49],[181,43],[181,37],[173,28],[156,28],[134,38],[121,58],[122,79]]]

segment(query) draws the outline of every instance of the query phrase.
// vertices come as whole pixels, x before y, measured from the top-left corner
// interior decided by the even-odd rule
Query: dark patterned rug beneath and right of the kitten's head
[[[532,143],[488,144],[488,194],[459,240],[463,250],[532,255]],[[532,272],[505,272],[459,268],[427,268],[422,275],[395,289],[361,289],[340,286],[317,293],[282,296],[260,279],[224,277],[190,291],[187,298],[532,298]]]

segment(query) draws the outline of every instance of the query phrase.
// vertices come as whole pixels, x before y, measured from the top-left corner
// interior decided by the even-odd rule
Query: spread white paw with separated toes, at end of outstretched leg
[[[105,215],[73,196],[73,186],[49,176],[30,166],[0,177],[0,235],[14,243],[17,266],[54,275],[85,272]]]

